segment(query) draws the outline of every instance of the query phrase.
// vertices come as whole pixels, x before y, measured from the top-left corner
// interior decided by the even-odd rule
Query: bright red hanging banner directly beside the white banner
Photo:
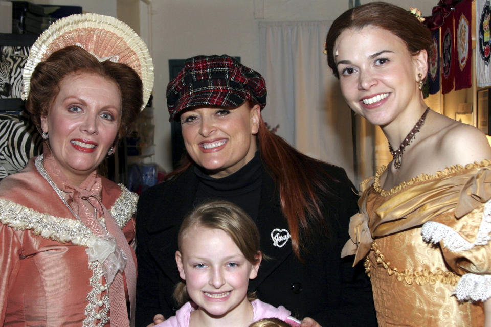
[[[454,74],[455,90],[472,86],[472,0],[464,0],[455,6]]]

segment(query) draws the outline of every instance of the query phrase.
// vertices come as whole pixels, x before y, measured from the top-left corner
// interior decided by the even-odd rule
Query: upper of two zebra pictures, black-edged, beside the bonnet
[[[35,34],[0,34],[0,111],[23,110],[22,69],[37,37]]]

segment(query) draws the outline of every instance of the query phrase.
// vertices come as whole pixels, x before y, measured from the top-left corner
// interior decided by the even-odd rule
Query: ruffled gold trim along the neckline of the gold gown
[[[421,174],[419,176],[413,177],[408,181],[404,181],[400,183],[399,185],[394,186],[390,190],[384,190],[380,187],[380,176],[384,173],[384,171],[387,169],[387,166],[382,166],[377,170],[374,176],[373,180],[373,189],[383,197],[388,197],[393,194],[399,193],[401,190],[407,188],[410,185],[413,185],[414,183],[420,182],[420,181],[429,181],[429,180],[435,180],[439,179],[442,177],[447,177],[450,175],[454,174],[459,174],[462,171],[465,170],[471,170],[471,169],[476,169],[476,168],[483,168],[486,166],[491,165],[491,160],[484,159],[480,163],[479,162],[473,162],[472,164],[467,164],[464,166],[462,165],[452,165],[450,167],[445,168],[442,171],[437,171],[433,175],[428,175],[428,174]]]

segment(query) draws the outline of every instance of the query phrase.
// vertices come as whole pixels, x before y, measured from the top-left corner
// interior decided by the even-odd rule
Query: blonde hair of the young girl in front
[[[197,206],[181,224],[178,233],[179,251],[182,251],[182,243],[187,231],[194,226],[225,231],[245,259],[253,265],[261,260],[259,230],[249,215],[237,205],[228,201],[216,200]],[[177,284],[173,296],[179,306],[190,300],[185,282]],[[253,300],[255,296],[249,294],[248,298]]]

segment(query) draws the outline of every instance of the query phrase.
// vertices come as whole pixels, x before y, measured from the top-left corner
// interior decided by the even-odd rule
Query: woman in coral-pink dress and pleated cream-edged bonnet
[[[113,17],[60,19],[32,46],[24,95],[45,141],[0,182],[0,325],[132,325],[137,196],[97,168],[152,76],[143,41]]]

